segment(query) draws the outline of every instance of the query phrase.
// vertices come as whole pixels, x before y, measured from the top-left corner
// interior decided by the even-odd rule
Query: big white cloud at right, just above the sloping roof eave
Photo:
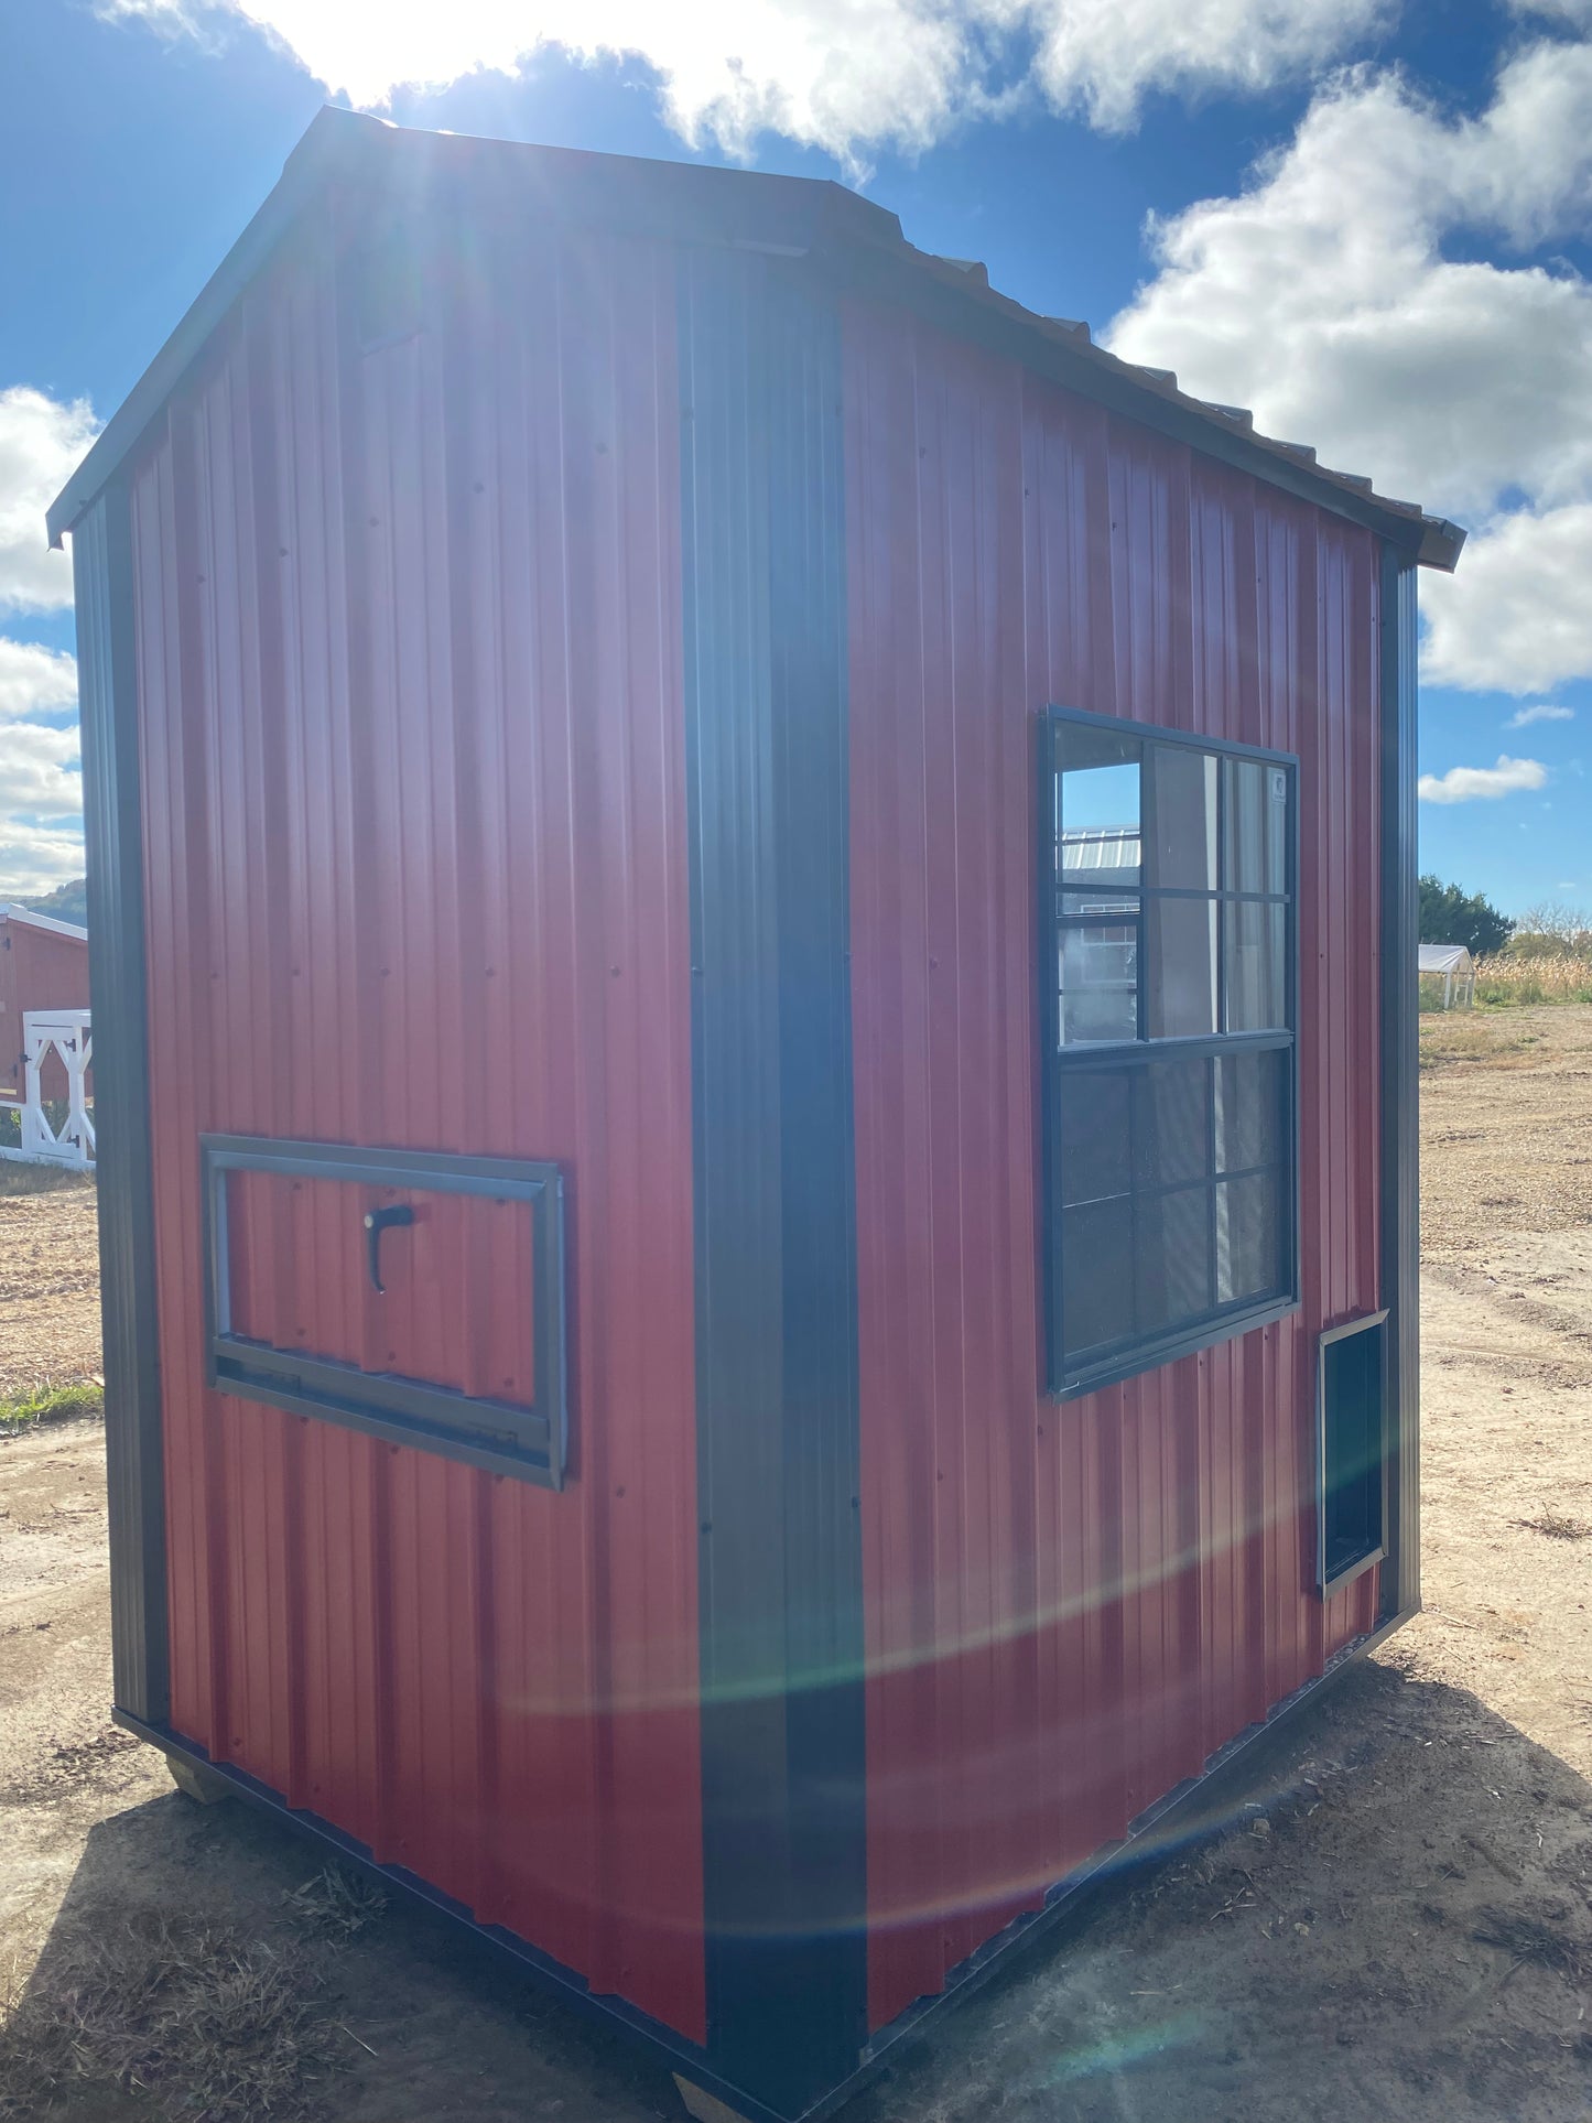
[[[1539,692],[1592,673],[1592,287],[1446,246],[1590,219],[1592,45],[1518,53],[1475,119],[1359,68],[1244,193],[1150,227],[1157,274],[1110,344],[1475,522],[1456,580],[1422,580],[1424,671]]]

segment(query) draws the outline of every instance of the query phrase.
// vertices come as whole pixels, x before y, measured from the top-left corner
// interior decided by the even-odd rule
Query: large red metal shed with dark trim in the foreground
[[[333,110],[66,529],[117,1715],[832,2106],[1416,1607],[1463,535],[834,185]]]

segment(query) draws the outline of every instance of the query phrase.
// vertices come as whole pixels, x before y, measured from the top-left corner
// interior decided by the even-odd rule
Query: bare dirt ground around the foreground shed
[[[1206,1834],[945,2015],[847,2123],[1592,2117],[1592,1011],[1426,1021],[1424,1049],[1424,1613]],[[0,1276],[21,1229],[59,1312],[89,1206],[0,1199]],[[19,1357],[11,1284],[0,1304],[0,1365],[59,1376],[53,1352]],[[291,2038],[323,2117],[679,2117],[658,2070],[435,1919],[329,1923],[306,1845],[178,1798],[108,1728],[108,1694],[100,1431],[38,1429],[0,1444],[13,2034],[30,2000],[36,2032],[64,1998],[76,2013],[83,1957],[146,1957],[176,1913],[233,1940],[229,1968],[244,1940],[297,1970]],[[11,2070],[15,2112],[68,2123],[250,2115],[225,2089],[195,2100],[170,2040],[123,2089],[70,2076],[57,2047],[45,2106],[0,2036],[0,2112]]]

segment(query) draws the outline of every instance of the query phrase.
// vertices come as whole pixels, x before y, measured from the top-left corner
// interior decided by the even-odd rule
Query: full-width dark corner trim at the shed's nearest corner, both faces
[[[838,321],[679,267],[707,2049],[779,2115],[866,2034]]]

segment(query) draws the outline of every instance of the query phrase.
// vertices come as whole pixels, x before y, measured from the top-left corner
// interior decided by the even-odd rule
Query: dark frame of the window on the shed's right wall
[[[1146,887],[1134,890],[1138,913],[1131,917],[1140,934],[1140,983],[1138,983],[1138,1038],[1134,1040],[1078,1040],[1061,1045],[1061,994],[1059,994],[1059,936],[1063,917],[1057,913],[1057,894],[1063,890],[1057,849],[1057,737],[1068,724],[1091,730],[1106,730],[1114,737],[1140,743],[1178,745],[1189,752],[1214,754],[1221,758],[1254,760],[1263,766],[1282,769],[1288,775],[1288,817],[1284,834],[1284,1019],[1282,1028],[1263,1032],[1212,1032],[1197,1036],[1148,1038],[1146,1036],[1146,968],[1144,960],[1144,902]],[[1193,730],[1170,730],[1155,722],[1136,722],[1127,715],[1097,715],[1080,707],[1049,705],[1036,715],[1036,945],[1040,985],[1040,1115],[1042,1115],[1042,1174],[1040,1174],[1040,1314],[1042,1314],[1042,1386],[1049,1399],[1072,1401],[1102,1386],[1121,1384],[1144,1371],[1176,1363],[1201,1348],[1216,1348],[1257,1327],[1269,1327],[1299,1310],[1299,758],[1293,752],[1274,752],[1265,745],[1244,745],[1227,739],[1206,737]],[[1221,775],[1218,775],[1221,786]],[[1218,798],[1221,800],[1221,798]],[[1144,822],[1140,817],[1140,830]],[[1216,849],[1221,864],[1223,826],[1218,813]],[[1221,877],[1221,868],[1218,868]],[[1129,890],[1129,887],[1125,887]],[[1161,898],[1195,898],[1216,907],[1216,949],[1218,949],[1218,1006],[1225,1008],[1223,960],[1227,951],[1229,902],[1246,900],[1276,904],[1276,894],[1257,892],[1193,892],[1182,887],[1150,887]],[[1127,917],[1125,924],[1127,926]],[[1214,1055],[1242,1051],[1286,1051],[1282,1117],[1282,1199],[1278,1204],[1278,1225],[1284,1246],[1284,1289],[1280,1295],[1259,1299],[1238,1299],[1231,1306],[1214,1308],[1193,1325],[1180,1325],[1165,1333],[1142,1335],[1131,1344],[1112,1344],[1108,1354],[1089,1363],[1068,1363],[1061,1342],[1061,1089],[1068,1074],[1076,1070],[1144,1068],[1155,1062],[1197,1062]],[[1146,1189],[1148,1191],[1148,1189]]]

